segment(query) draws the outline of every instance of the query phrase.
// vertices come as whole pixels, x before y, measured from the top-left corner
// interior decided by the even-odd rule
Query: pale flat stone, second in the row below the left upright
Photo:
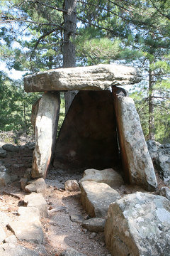
[[[42,217],[47,217],[47,202],[43,198],[42,193],[30,193],[24,198],[24,203],[28,207],[36,207],[40,211]]]

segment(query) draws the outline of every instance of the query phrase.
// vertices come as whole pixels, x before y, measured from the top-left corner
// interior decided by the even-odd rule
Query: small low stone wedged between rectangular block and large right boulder
[[[91,232],[102,232],[104,231],[106,220],[103,218],[91,218],[84,220],[82,226]]]

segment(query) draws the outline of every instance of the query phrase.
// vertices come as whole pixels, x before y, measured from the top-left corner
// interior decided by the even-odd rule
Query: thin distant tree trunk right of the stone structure
[[[151,63],[149,63],[151,64]],[[154,140],[154,71],[149,68],[149,139]]]

